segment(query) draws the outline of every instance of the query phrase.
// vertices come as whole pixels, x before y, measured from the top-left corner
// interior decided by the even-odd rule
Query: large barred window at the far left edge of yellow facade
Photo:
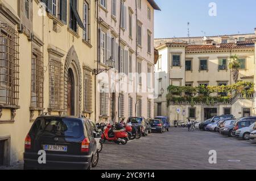
[[[0,24],[0,102],[18,106],[19,33],[6,23]]]

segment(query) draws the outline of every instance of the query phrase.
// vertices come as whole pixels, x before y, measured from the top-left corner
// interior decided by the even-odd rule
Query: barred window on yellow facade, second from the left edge
[[[31,66],[31,107],[43,108],[44,91],[44,62],[43,53],[34,48],[32,50]]]

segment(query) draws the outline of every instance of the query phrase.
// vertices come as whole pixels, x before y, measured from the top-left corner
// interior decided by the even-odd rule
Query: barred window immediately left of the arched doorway
[[[49,62],[49,108],[63,109],[63,65],[60,61]]]

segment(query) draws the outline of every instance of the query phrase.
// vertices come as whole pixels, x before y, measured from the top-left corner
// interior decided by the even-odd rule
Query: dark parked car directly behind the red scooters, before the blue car
[[[146,124],[144,117],[129,117],[128,121],[138,130],[141,130],[142,136],[147,136],[150,132],[150,127]]]

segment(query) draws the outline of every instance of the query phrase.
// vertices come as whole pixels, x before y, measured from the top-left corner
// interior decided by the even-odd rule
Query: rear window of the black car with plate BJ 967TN
[[[32,127],[32,134],[42,133],[63,137],[80,137],[82,134],[82,121],[72,118],[47,117],[39,118]]]

